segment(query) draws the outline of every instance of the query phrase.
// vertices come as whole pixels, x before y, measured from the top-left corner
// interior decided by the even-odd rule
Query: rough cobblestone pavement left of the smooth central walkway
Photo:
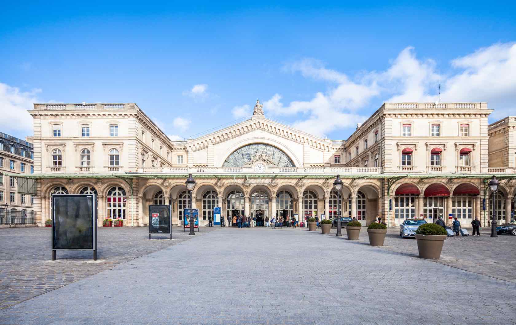
[[[201,228],[201,234],[216,229]],[[147,227],[100,227],[96,262],[91,251],[57,251],[52,261],[51,228],[0,229],[0,310],[189,237],[179,227],[173,240],[148,240]]]

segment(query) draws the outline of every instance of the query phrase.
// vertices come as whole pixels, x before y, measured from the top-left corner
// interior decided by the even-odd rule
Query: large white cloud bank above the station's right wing
[[[417,58],[406,47],[384,71],[365,71],[350,77],[327,69],[318,60],[286,64],[286,72],[327,82],[309,101],[281,102],[280,94],[263,103],[267,114],[295,116],[296,127],[313,134],[363,122],[382,102],[488,102],[495,109],[490,120],[514,115],[516,102],[516,44],[494,44],[451,61],[453,71],[440,73],[432,59]],[[374,107],[371,107],[373,105]]]

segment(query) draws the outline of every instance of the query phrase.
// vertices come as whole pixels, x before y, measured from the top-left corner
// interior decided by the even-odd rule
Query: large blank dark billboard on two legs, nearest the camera
[[[57,250],[92,250],[96,261],[96,195],[52,196],[52,261]]]

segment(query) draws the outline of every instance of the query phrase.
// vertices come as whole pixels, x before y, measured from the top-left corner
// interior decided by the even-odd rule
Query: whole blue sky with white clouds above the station
[[[516,114],[509,2],[3,5],[0,129],[34,102],[135,102],[171,138],[266,116],[346,139],[383,102],[486,101]],[[5,10],[4,10],[5,9]],[[197,85],[197,86],[196,86]],[[193,91],[192,91],[193,90]]]

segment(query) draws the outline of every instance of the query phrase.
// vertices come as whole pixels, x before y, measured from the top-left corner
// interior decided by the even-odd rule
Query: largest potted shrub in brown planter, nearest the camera
[[[420,257],[439,259],[443,250],[446,230],[435,223],[425,223],[416,230],[417,250]]]

